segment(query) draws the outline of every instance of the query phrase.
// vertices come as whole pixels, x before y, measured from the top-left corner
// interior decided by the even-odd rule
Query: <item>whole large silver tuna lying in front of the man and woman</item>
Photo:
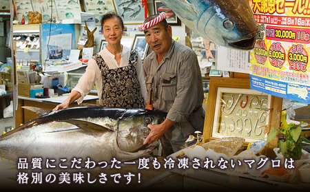
[[[26,108],[27,109],[27,108]],[[38,111],[35,107],[28,107]],[[161,123],[166,113],[147,109],[72,107],[41,111],[41,116],[0,137],[0,157],[132,160],[151,153],[143,146],[148,124]]]

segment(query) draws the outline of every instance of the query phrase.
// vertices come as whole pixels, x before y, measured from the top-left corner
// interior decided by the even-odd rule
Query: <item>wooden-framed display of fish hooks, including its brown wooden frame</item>
[[[249,142],[267,140],[269,130],[280,127],[281,110],[282,98],[250,89],[249,78],[210,78],[203,140],[209,142],[217,138],[240,136],[245,138],[244,147]],[[245,120],[247,118],[249,120]],[[243,127],[239,134],[241,125]],[[269,142],[262,153],[274,156],[272,149],[278,147],[277,142],[278,138]]]

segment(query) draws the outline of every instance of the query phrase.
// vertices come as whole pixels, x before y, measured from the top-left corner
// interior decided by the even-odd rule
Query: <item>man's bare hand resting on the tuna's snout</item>
[[[149,132],[149,135],[144,140],[143,145],[151,144],[153,141],[159,140],[163,134],[172,126],[174,125],[175,121],[165,119],[161,124],[158,125],[147,125],[149,129],[151,129],[151,132]]]

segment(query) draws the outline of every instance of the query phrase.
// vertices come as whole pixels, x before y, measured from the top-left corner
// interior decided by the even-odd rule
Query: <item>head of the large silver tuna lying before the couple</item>
[[[145,138],[150,129],[147,125],[160,124],[167,113],[163,111],[151,111],[139,109],[134,115],[125,116],[119,122],[117,144],[122,151],[133,152],[143,147]]]

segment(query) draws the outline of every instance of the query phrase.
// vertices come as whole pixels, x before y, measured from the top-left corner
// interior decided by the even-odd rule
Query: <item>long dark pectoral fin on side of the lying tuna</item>
[[[91,133],[99,132],[99,131],[101,133],[103,131],[114,131],[109,127],[104,127],[96,123],[85,121],[85,120],[68,119],[68,120],[61,120],[61,121],[71,123],[72,125],[76,125],[77,127],[80,127],[81,129],[85,131],[89,131]]]

